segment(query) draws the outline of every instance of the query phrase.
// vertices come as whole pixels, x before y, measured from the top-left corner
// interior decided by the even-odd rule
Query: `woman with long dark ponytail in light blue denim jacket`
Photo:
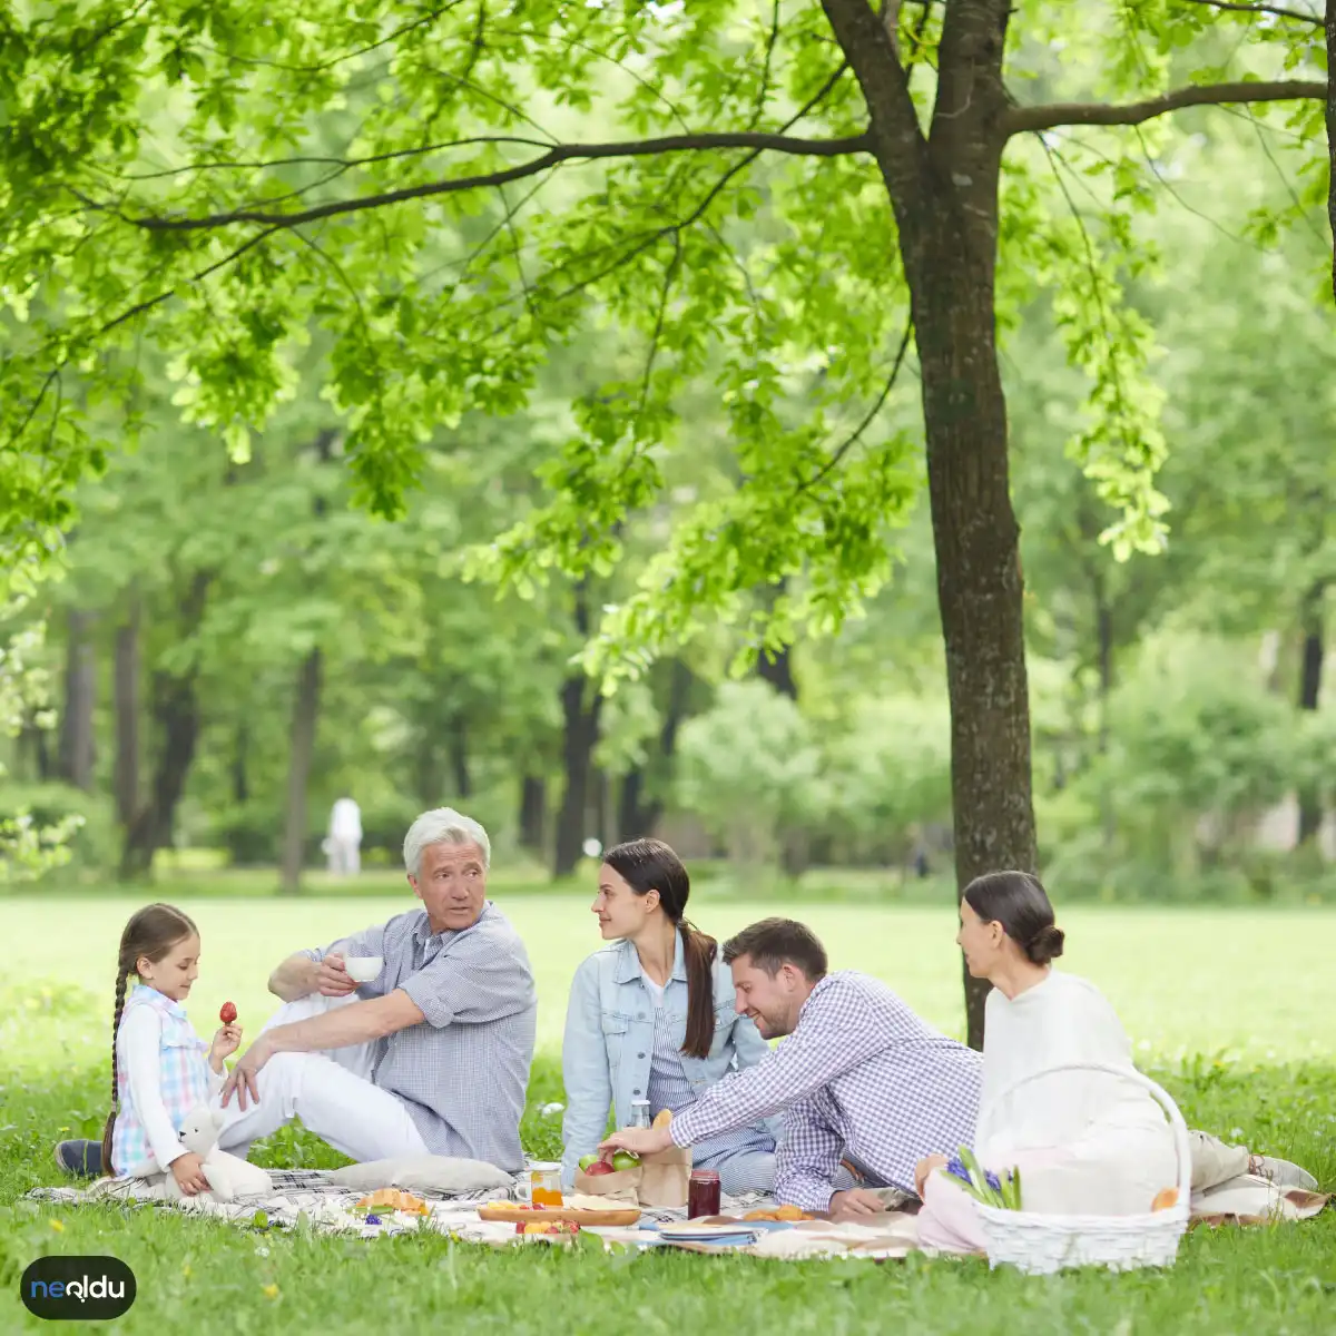
[[[637,1100],[649,1102],[651,1117],[676,1113],[767,1051],[733,1007],[732,973],[715,939],[683,916],[689,891],[687,868],[663,840],[631,840],[604,855],[593,912],[609,945],[576,970],[561,1046],[568,1188],[603,1140],[609,1106],[617,1128],[631,1125]],[[758,1122],[703,1141],[692,1164],[717,1169],[732,1196],[770,1192],[776,1129]]]

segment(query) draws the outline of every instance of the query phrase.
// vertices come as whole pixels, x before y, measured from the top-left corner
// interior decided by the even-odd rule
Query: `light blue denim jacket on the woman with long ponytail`
[[[687,1038],[687,962],[680,933],[664,1006],[680,1045]],[[568,1186],[578,1160],[603,1140],[609,1106],[616,1125],[625,1128],[631,1124],[632,1102],[648,1098],[653,1050],[655,1003],[643,982],[640,958],[631,942],[613,942],[585,959],[570,983],[561,1043],[566,1088],[561,1176]],[[681,1055],[692,1090],[704,1092],[731,1071],[755,1066],[767,1051],[768,1045],[752,1021],[733,1007],[732,971],[716,959],[715,1041],[709,1057]],[[776,1140],[780,1121],[767,1124]]]

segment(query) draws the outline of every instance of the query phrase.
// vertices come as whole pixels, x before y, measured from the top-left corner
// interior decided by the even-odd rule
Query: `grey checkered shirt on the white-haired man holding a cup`
[[[415,910],[302,954],[319,961],[335,946],[385,957],[359,998],[402,989],[426,1017],[379,1041],[371,1079],[407,1105],[428,1149],[521,1169],[538,998],[510,921],[488,900],[472,927],[433,935]]]

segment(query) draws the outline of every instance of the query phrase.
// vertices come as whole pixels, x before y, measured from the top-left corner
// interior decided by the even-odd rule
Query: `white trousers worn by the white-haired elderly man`
[[[313,993],[281,1006],[265,1030],[355,1001],[357,994],[327,998]],[[259,1101],[247,1097],[243,1110],[234,1093],[222,1110],[219,1146],[244,1158],[253,1141],[301,1118],[307,1130],[359,1162],[429,1154],[407,1106],[371,1083],[374,1054],[374,1042],[323,1053],[275,1053],[257,1077]]]

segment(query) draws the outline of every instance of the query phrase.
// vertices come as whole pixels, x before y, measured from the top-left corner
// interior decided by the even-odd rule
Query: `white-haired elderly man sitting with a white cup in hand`
[[[458,1156],[524,1165],[524,1113],[537,1019],[520,935],[486,898],[486,831],[449,807],[403,840],[421,908],[298,951],[270,975],[285,1006],[223,1088],[219,1145],[301,1118],[353,1160]],[[381,958],[355,982],[354,957]]]

